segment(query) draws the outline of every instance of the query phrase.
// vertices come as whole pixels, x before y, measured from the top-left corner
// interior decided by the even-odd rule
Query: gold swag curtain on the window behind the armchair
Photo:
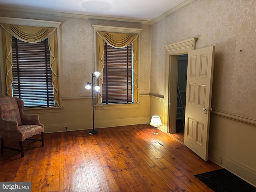
[[[52,27],[18,26],[1,24],[3,54],[5,62],[6,93],[12,96],[12,36],[28,43],[41,42],[48,38],[50,49],[50,68],[52,70],[52,85],[54,87],[54,100],[59,106],[58,94],[58,40],[57,30]]]

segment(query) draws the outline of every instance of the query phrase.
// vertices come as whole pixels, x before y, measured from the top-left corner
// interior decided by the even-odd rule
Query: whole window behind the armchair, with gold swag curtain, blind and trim
[[[30,108],[61,106],[60,24],[0,17],[2,95],[17,96]]]

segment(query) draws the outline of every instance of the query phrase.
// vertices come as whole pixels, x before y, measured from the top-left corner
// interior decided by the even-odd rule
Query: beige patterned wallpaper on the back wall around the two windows
[[[84,86],[94,72],[94,29],[92,25],[142,28],[140,44],[140,94],[150,90],[151,26],[134,22],[118,22],[87,18],[71,18],[50,14],[1,11],[0,16],[62,22],[60,25],[60,72],[62,97],[91,96]]]

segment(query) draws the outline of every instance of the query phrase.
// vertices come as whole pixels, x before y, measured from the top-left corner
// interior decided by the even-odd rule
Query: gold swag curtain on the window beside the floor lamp
[[[134,86],[133,97],[134,103],[138,102],[138,34],[115,33],[97,31],[96,46],[97,46],[97,66],[100,72],[98,84],[100,86],[100,93],[98,94],[98,105],[101,104],[102,84],[103,84],[103,68],[104,68],[104,42],[115,48],[124,48],[132,44],[133,51],[133,72],[134,72]]]

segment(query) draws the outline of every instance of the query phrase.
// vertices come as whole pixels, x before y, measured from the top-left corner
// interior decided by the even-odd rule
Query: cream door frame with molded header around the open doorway
[[[164,49],[166,50],[166,62],[164,78],[163,132],[176,132],[178,55],[188,54],[190,50],[194,50],[197,39],[198,38],[191,38],[164,46]]]

